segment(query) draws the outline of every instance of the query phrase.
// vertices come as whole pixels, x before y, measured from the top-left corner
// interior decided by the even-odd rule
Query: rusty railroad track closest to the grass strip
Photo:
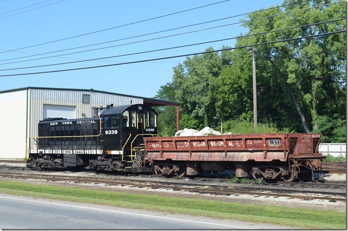
[[[255,196],[274,196],[274,197],[292,197],[305,200],[322,199],[322,200],[335,200],[346,201],[346,193],[339,192],[323,192],[323,191],[309,191],[306,189],[276,189],[269,188],[267,186],[257,185],[209,185],[209,184],[195,184],[192,182],[166,182],[166,181],[154,181],[154,180],[133,180],[133,179],[115,179],[115,178],[101,178],[101,177],[75,177],[75,176],[56,176],[47,174],[32,174],[32,173],[8,173],[0,172],[0,177],[3,178],[21,178],[21,179],[41,179],[46,181],[70,181],[75,183],[92,183],[92,184],[106,184],[106,185],[119,185],[119,186],[131,186],[139,188],[151,188],[151,189],[172,189],[174,191],[187,191],[198,193],[211,193],[221,195],[233,195],[233,194],[250,194]],[[341,187],[343,187],[341,185]],[[310,195],[309,195],[310,194]],[[313,195],[314,194],[314,195]]]

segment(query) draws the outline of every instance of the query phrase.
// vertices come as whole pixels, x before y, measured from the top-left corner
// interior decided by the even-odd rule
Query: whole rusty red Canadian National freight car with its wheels
[[[235,170],[236,177],[313,179],[326,158],[321,134],[281,133],[144,138],[145,161],[157,175],[195,176]]]

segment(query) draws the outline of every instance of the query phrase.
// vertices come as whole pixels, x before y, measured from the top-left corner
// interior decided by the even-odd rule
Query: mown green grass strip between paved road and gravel
[[[303,229],[346,229],[346,213],[0,181],[0,192]]]

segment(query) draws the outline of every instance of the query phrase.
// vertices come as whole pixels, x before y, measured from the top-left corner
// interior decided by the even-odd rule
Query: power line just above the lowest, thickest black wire
[[[246,38],[246,37],[251,37],[251,36],[264,35],[264,34],[269,34],[269,33],[285,31],[285,30],[293,30],[293,29],[297,29],[297,28],[309,27],[309,26],[314,26],[314,25],[323,24],[323,23],[331,23],[331,22],[341,21],[341,20],[345,20],[345,19],[346,18],[341,18],[341,19],[324,21],[324,22],[318,22],[318,23],[312,23],[312,24],[301,25],[301,26],[296,26],[296,27],[291,27],[291,28],[267,31],[267,32],[262,32],[262,33],[258,33],[258,34],[245,35],[245,36],[239,36],[239,37],[232,37],[232,38],[228,38],[228,39],[218,39],[218,40],[213,40],[213,41],[206,41],[206,42],[200,42],[200,43],[194,43],[194,44],[188,44],[188,45],[182,45],[182,46],[174,46],[174,47],[163,48],[163,49],[156,49],[156,50],[150,50],[150,51],[142,51],[142,52],[136,52],[136,53],[130,53],[130,54],[123,54],[123,55],[116,55],[116,56],[109,56],[109,57],[102,57],[102,58],[95,58],[95,59],[88,59],[88,60],[80,60],[80,61],[75,61],[75,62],[66,62],[66,63],[58,63],[58,64],[47,64],[47,65],[41,65],[41,66],[22,67],[22,68],[2,69],[0,71],[10,71],[10,70],[29,69],[29,68],[38,68],[38,67],[48,67],[48,66],[72,64],[72,63],[81,63],[81,62],[87,62],[87,61],[95,61],[95,60],[100,60],[100,59],[117,58],[117,57],[130,56],[130,55],[135,55],[135,54],[144,54],[144,53],[150,53],[150,52],[157,52],[157,51],[163,51],[163,50],[183,48],[183,47],[194,46],[194,45],[202,45],[202,44],[218,42],[218,41],[225,41],[225,40],[230,40],[230,39],[237,39],[237,38],[239,39],[239,38]]]

